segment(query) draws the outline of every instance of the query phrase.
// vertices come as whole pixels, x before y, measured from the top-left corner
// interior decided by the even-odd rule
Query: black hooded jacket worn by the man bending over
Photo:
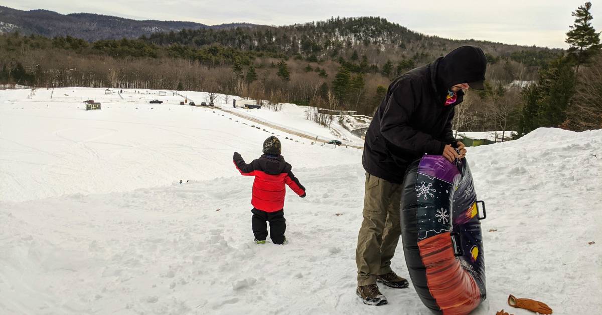
[[[455,146],[454,106],[464,93],[448,106],[445,96],[456,84],[483,81],[486,63],[479,47],[462,46],[396,78],[366,132],[362,164],[368,174],[402,183],[412,161]]]

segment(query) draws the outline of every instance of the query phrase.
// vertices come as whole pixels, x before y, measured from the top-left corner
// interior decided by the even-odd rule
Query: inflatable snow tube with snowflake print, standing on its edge
[[[400,207],[406,265],[420,299],[435,314],[470,313],[486,296],[486,215],[466,159],[452,164],[425,155],[413,162]]]

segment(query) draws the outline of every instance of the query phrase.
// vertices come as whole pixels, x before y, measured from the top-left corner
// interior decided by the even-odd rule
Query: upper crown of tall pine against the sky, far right
[[[591,57],[600,50],[600,33],[597,33],[591,25],[591,20],[594,18],[589,10],[592,8],[592,2],[585,2],[584,5],[577,8],[573,12],[575,23],[569,28],[566,33],[566,43],[570,45],[568,49],[569,56],[573,57],[577,63],[577,71],[579,66],[589,63]]]

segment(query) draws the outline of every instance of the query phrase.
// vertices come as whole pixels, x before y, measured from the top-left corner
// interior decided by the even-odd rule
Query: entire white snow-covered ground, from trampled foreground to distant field
[[[0,92],[1,314],[431,314],[412,286],[380,286],[382,307],[355,296],[361,150],[283,141],[308,197],[288,191],[290,243],[255,245],[252,178],[231,156],[255,158],[270,132],[211,109],[26,96]],[[602,309],[601,147],[602,130],[538,129],[469,148],[487,205],[473,314],[510,311],[509,293]],[[402,246],[392,265],[408,276]]]

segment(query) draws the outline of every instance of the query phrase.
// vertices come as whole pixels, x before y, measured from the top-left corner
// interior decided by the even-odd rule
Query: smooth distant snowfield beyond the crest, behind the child
[[[31,90],[1,91],[0,200],[235,176],[232,153],[251,161],[272,133],[281,138],[282,154],[296,168],[356,163],[361,154],[310,145],[308,139],[269,127],[257,129],[256,123],[216,108],[179,105],[184,99],[171,92],[133,91],[122,97],[98,88],[38,89],[33,96]],[[87,99],[101,102],[102,109],[85,111]],[[165,103],[150,104],[152,99]],[[329,158],[321,158],[326,151]]]

